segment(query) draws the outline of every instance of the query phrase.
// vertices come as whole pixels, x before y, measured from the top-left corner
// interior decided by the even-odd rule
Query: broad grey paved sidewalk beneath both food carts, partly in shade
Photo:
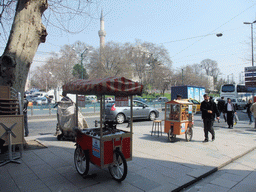
[[[135,125],[133,160],[128,162],[128,174],[122,183],[115,182],[107,169],[93,165],[90,173],[97,176],[83,179],[74,167],[73,142],[57,141],[52,135],[28,137],[47,148],[25,151],[21,164],[0,167],[0,191],[180,191],[256,146],[256,132],[246,122],[239,122],[234,129],[222,123],[215,127],[214,142],[202,143],[203,129],[194,127],[191,142],[180,135],[171,143],[167,134],[151,136],[151,126]],[[247,172],[248,166],[234,170]]]

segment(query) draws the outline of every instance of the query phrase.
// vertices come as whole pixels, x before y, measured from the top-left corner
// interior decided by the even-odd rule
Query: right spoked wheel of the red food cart
[[[123,181],[127,175],[127,162],[123,153],[119,150],[114,151],[114,161],[108,167],[110,175],[116,181]]]

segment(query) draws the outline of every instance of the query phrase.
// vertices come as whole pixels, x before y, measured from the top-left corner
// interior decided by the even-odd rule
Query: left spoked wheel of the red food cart
[[[82,176],[86,176],[90,166],[88,152],[77,146],[74,154],[74,162],[77,172]]]

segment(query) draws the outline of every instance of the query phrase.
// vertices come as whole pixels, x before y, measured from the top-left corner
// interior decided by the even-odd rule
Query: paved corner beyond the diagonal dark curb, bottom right
[[[256,191],[256,150],[223,167],[184,192],[254,192]]]

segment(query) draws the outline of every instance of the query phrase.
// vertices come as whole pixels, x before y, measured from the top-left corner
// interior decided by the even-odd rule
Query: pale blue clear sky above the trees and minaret
[[[173,70],[211,59],[217,61],[220,77],[233,76],[239,82],[244,67],[252,65],[251,25],[243,22],[256,20],[256,0],[102,0],[86,20],[85,30],[78,34],[62,32],[46,23],[47,40],[39,45],[32,70],[65,44],[79,40],[98,48],[101,9],[106,42],[134,43],[140,39],[163,45]],[[79,22],[70,22],[68,27],[76,29]]]

